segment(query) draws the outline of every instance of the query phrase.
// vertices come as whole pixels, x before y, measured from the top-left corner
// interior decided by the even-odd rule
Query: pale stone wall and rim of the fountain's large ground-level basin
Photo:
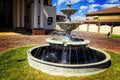
[[[98,62],[87,63],[87,64],[60,64],[53,63],[48,61],[43,61],[38,57],[35,57],[34,54],[38,48],[49,47],[48,44],[34,47],[28,50],[28,62],[29,65],[35,69],[41,70],[50,75],[57,76],[85,76],[96,74],[105,71],[110,66],[110,56],[99,49],[90,47],[95,51],[98,57],[101,58]],[[40,53],[43,54],[43,53]]]

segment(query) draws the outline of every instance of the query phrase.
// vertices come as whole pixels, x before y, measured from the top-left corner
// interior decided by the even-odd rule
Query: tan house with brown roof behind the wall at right
[[[87,20],[84,23],[95,23],[98,27],[98,32],[100,31],[101,25],[111,26],[111,33],[115,26],[120,26],[120,6],[108,8],[105,10],[100,10],[96,12],[90,12],[86,14]]]

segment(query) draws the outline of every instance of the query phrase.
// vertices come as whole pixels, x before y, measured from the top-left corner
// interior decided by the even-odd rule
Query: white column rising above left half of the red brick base
[[[41,0],[40,0],[41,1]],[[33,28],[38,28],[38,0],[34,0]]]

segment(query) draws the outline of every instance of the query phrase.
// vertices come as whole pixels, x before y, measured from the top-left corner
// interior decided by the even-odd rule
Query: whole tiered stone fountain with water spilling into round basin
[[[61,11],[67,15],[65,22],[57,23],[65,30],[60,36],[47,38],[43,44],[28,50],[29,65],[51,75],[84,76],[105,71],[110,66],[110,56],[99,49],[88,47],[89,40],[73,37],[71,31],[80,23],[71,22],[70,16],[77,10],[68,8]]]

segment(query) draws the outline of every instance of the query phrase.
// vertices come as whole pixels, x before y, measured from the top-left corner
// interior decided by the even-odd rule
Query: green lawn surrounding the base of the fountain
[[[85,77],[61,77],[30,67],[26,54],[29,48],[21,47],[0,54],[0,80],[120,80],[120,54],[107,51],[112,65],[103,73]]]

